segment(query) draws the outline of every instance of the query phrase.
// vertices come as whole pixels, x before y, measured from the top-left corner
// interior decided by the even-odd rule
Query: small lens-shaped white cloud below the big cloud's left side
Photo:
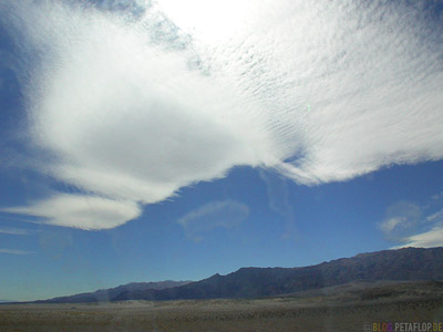
[[[42,217],[48,225],[106,229],[137,218],[141,208],[130,200],[61,194],[30,206],[4,208],[2,211]]]

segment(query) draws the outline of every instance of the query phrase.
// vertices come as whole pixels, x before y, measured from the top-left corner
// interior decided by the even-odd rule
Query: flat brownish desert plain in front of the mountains
[[[443,283],[350,283],[254,300],[0,305],[2,332],[342,332],[382,322],[443,322]]]

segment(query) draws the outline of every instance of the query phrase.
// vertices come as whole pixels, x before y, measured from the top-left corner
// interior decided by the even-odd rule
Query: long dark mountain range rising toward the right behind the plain
[[[116,288],[107,291],[105,298],[95,297],[94,301],[260,298],[353,281],[388,280],[443,280],[443,248],[360,253],[305,268],[241,268],[227,276],[217,273],[200,281],[164,289]],[[87,302],[87,299],[92,298],[80,294],[45,302]]]

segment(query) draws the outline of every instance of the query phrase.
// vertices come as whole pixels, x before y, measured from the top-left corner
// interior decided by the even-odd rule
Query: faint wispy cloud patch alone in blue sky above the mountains
[[[178,219],[186,236],[195,241],[202,241],[204,235],[214,228],[234,228],[240,225],[249,215],[249,208],[238,201],[212,201],[189,211]]]

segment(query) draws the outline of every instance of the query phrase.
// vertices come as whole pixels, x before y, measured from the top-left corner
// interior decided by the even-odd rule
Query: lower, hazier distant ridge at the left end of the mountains
[[[165,290],[172,287],[181,287],[192,281],[158,281],[158,282],[131,282],[115,288],[102,289],[92,293],[81,293],[70,297],[60,297],[50,300],[35,301],[35,302],[51,302],[51,303],[65,303],[65,302],[106,302],[112,301],[121,293],[126,292],[141,292],[146,290]]]

